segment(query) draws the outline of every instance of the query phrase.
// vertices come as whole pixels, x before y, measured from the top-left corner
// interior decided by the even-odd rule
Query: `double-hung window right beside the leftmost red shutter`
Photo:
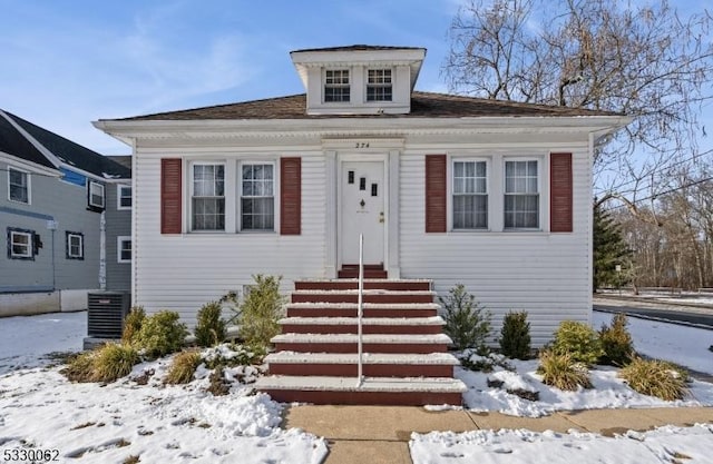
[[[193,165],[193,230],[225,230],[225,166]]]

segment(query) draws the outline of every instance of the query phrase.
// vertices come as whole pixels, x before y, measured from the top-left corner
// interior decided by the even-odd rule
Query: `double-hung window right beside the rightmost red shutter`
[[[505,228],[539,228],[537,160],[505,161]]]

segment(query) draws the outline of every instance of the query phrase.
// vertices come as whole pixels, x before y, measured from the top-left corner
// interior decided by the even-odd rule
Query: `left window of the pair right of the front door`
[[[453,162],[453,229],[488,228],[486,161]]]

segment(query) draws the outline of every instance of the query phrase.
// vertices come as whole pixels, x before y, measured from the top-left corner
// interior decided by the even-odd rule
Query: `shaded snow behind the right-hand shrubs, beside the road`
[[[594,312],[594,328],[609,324],[611,313]],[[643,355],[666,359],[713,375],[713,330],[627,317],[634,347]]]

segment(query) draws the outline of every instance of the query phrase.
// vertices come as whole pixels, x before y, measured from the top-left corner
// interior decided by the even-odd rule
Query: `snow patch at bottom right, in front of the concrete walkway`
[[[713,425],[665,426],[614,438],[524,430],[413,433],[409,447],[413,464],[706,464],[713,456]]]

